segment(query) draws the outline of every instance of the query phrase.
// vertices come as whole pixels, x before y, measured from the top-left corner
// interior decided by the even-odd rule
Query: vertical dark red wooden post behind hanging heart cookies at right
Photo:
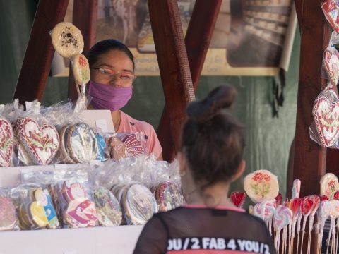
[[[320,8],[321,1],[305,1],[302,4],[302,13],[300,7],[297,7],[298,18],[302,17],[299,20],[302,41],[293,178],[302,181],[301,197],[319,193],[319,180],[326,173],[326,149],[309,138],[309,126],[314,121],[312,116],[314,100],[326,86],[326,80],[321,80],[321,65],[323,49],[327,47],[330,33]],[[316,235],[313,236],[311,253],[316,253]],[[307,236],[305,238],[307,239]]]

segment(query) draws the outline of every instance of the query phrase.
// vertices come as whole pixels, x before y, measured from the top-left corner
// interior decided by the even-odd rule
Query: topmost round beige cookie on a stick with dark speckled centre
[[[75,25],[69,22],[57,24],[51,31],[54,49],[66,58],[83,52],[83,35]]]

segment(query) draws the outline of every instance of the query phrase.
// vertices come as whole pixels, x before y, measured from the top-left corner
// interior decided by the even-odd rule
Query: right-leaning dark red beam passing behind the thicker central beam
[[[222,0],[197,0],[194,5],[185,37],[194,91],[198,87],[201,70],[210,45],[210,40],[212,39],[221,3]],[[170,162],[174,159],[175,153],[172,136],[169,135],[169,133],[169,117],[165,106],[162,111],[157,135],[162,143],[162,155],[164,159]]]

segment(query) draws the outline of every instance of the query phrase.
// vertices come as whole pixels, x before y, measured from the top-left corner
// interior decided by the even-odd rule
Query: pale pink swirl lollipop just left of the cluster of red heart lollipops
[[[274,243],[275,248],[280,248],[280,231],[283,229],[283,249],[286,249],[287,225],[292,222],[292,210],[290,208],[278,205],[273,215],[273,224],[275,227]]]

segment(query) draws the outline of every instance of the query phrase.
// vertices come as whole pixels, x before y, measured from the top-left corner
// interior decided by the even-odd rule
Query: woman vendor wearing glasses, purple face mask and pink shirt
[[[90,63],[88,95],[93,97],[88,109],[109,109],[118,133],[143,131],[148,153],[162,159],[162,147],[153,126],[120,110],[131,99],[136,78],[129,48],[118,40],[102,40],[90,49],[87,57]]]

